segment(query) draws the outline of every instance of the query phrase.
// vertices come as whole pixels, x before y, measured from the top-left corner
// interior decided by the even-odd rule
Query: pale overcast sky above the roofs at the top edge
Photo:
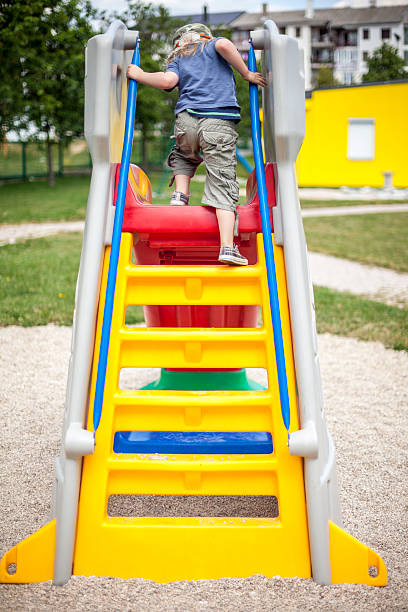
[[[91,0],[95,8],[121,11],[127,6],[126,0]],[[153,2],[163,4],[172,15],[185,15],[186,13],[201,13],[203,0],[163,0]],[[224,11],[246,11],[255,13],[261,10],[262,1],[259,0],[207,0],[209,11],[221,13]],[[335,0],[314,0],[315,8],[329,8],[335,4]],[[282,11],[290,9],[302,9],[306,6],[306,0],[281,0],[280,2],[269,2],[269,9]]]

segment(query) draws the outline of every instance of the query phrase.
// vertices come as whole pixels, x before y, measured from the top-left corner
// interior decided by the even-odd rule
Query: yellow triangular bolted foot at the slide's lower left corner
[[[52,580],[55,519],[13,546],[0,561],[0,582],[29,583]]]

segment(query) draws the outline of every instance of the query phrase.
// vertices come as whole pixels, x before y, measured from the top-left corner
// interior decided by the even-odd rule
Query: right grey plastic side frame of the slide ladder
[[[323,409],[313,287],[300,212],[295,161],[305,133],[304,60],[296,39],[280,35],[273,21],[251,32],[262,49],[268,86],[263,91],[266,161],[275,162],[278,202],[275,238],[283,245],[301,429],[289,452],[304,457],[313,579],[331,584],[329,520],[341,526],[335,451]]]

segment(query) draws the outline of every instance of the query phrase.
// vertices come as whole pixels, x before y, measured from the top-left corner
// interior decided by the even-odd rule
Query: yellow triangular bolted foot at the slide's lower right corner
[[[331,521],[329,537],[332,584],[387,584],[387,568],[376,552]]]

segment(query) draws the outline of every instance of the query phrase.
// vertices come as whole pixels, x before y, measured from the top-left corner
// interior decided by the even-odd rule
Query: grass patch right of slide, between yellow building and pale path
[[[310,251],[408,272],[408,213],[303,219]]]

